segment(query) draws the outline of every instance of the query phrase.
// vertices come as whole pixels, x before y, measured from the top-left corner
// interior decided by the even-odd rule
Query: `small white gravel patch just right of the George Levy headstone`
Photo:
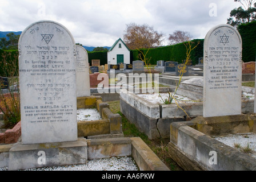
[[[97,109],[78,109],[77,122],[81,121],[96,121],[102,119],[101,114]]]

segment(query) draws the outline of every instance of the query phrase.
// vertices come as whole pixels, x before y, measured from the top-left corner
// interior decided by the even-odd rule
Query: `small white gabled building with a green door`
[[[130,49],[119,38],[107,52],[107,64],[130,64]]]

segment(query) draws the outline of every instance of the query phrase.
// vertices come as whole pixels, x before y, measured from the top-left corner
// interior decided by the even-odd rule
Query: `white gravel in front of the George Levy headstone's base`
[[[0,171],[7,171],[8,168],[0,168]],[[61,167],[45,167],[45,168],[30,168],[24,171],[138,171],[133,158],[111,157],[103,159],[88,160],[86,164],[61,166]]]

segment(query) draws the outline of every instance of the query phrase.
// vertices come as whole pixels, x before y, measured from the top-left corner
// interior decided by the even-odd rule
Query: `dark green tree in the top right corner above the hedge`
[[[230,11],[230,18],[227,24],[238,27],[239,24],[249,23],[256,20],[256,1],[255,0],[234,0],[241,3],[242,6]]]

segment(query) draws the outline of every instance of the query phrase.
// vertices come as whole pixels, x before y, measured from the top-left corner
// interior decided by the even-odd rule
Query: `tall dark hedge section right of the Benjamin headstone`
[[[255,61],[256,53],[256,21],[241,24],[238,26],[242,38],[242,59],[243,61]]]

